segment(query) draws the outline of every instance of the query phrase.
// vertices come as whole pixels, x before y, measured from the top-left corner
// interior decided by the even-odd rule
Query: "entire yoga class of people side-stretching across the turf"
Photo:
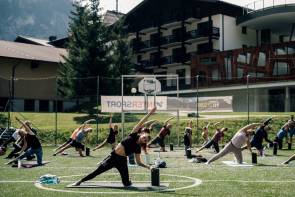
[[[97,169],[89,173],[81,180],[75,183],[75,185],[80,185],[82,182],[93,179],[99,174],[110,170],[111,168],[117,168],[121,175],[122,183],[124,186],[130,186],[131,181],[129,180],[127,158],[128,156],[134,155],[137,165],[150,169],[151,167],[147,164],[144,164],[141,161],[141,150],[145,154],[148,154],[147,148],[151,148],[154,145],[158,144],[161,148],[161,151],[165,150],[165,137],[170,135],[172,125],[169,121],[172,118],[169,118],[164,122],[162,128],[160,129],[157,136],[151,140],[150,132],[153,130],[153,127],[159,122],[156,120],[148,121],[148,118],[156,111],[156,108],[153,108],[149,113],[147,113],[132,129],[131,133],[125,137],[119,144],[116,144],[116,136],[118,134],[118,125],[112,124],[112,116],[110,116],[109,121],[109,133],[107,138],[99,145],[97,145],[93,151],[98,150],[110,144],[112,147],[111,153],[98,165]],[[19,129],[16,129],[12,137],[7,140],[2,146],[6,147],[9,143],[14,142],[14,150],[8,154],[7,158],[12,159],[8,163],[13,163],[19,159],[27,157],[31,159],[33,155],[37,157],[37,165],[42,165],[42,146],[39,139],[36,136],[36,131],[31,128],[29,121],[21,121],[18,118],[16,120],[21,124]],[[94,119],[85,121],[81,126],[73,131],[70,138],[61,146],[59,146],[53,156],[63,153],[68,148],[75,148],[78,151],[80,156],[83,155],[83,150],[85,146],[83,145],[83,140],[85,140],[88,133],[92,131],[90,122],[95,121]],[[295,121],[293,116],[289,121],[287,121],[280,131],[277,133],[274,141],[268,139],[268,132],[271,130],[269,127],[271,119],[266,120],[263,123],[252,123],[244,126],[239,129],[232,139],[224,146],[222,150],[219,149],[219,143],[224,138],[224,133],[228,131],[228,128],[220,128],[218,125],[219,122],[213,124],[215,128],[214,135],[212,138],[209,138],[209,127],[210,123],[203,128],[202,137],[204,139],[204,144],[196,152],[200,152],[205,148],[214,147],[216,154],[213,155],[208,161],[207,164],[210,164],[217,159],[225,156],[228,153],[233,153],[236,157],[237,163],[243,163],[242,151],[248,149],[252,153],[252,148],[255,147],[259,155],[263,155],[263,140],[269,144],[278,143],[279,148],[282,148],[283,138],[286,137],[287,141],[292,142],[292,136],[295,132]],[[193,121],[190,120],[187,123],[187,126],[184,130],[184,145],[185,150],[192,148],[192,134],[193,134]],[[284,163],[287,164],[290,161],[295,160],[295,154],[290,157]]]

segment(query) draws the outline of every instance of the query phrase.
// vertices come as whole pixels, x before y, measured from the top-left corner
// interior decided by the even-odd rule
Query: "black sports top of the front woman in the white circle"
[[[122,140],[121,144],[125,148],[125,154],[131,155],[132,153],[140,154],[141,153],[141,146],[137,144],[136,141],[138,140],[139,135],[138,133],[131,133],[125,139]]]

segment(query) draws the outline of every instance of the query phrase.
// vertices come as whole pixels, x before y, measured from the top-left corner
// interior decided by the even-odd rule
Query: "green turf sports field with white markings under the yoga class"
[[[51,156],[54,147],[44,147],[44,160],[50,161],[42,167],[12,168],[5,165],[7,161],[0,158],[0,196],[294,196],[295,163],[280,165],[294,150],[279,150],[278,156],[272,156],[267,150],[266,157],[258,157],[258,165],[253,167],[230,167],[222,161],[233,160],[227,155],[210,164],[190,163],[184,156],[182,147],[174,151],[161,152],[161,159],[167,168],[160,170],[161,183],[169,187],[158,190],[108,189],[108,188],[66,188],[81,176],[91,172],[109,152],[110,147],[91,152],[90,157],[79,157],[69,149],[66,156]],[[150,150],[151,162],[158,157],[157,149]],[[167,147],[167,150],[169,148]],[[209,158],[213,150],[204,150],[201,154]],[[243,152],[244,160],[251,164],[248,150]],[[130,167],[129,173],[133,183],[151,183],[151,173],[141,167]],[[36,185],[35,181],[45,174],[57,175],[61,182],[57,185]],[[115,169],[102,174],[94,182],[121,182]]]

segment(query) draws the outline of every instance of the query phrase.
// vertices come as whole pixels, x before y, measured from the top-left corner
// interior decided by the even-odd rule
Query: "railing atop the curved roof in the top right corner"
[[[274,7],[287,7],[295,4],[295,0],[258,0],[244,6],[243,14],[252,14],[257,11],[270,9]]]

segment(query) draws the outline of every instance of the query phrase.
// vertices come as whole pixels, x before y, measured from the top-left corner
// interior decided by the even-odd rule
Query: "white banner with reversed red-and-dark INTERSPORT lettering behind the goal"
[[[147,97],[148,109],[154,107],[154,96]],[[123,110],[124,111],[142,111],[145,110],[144,96],[124,96]],[[167,110],[167,97],[156,97],[157,110]],[[101,111],[102,112],[121,112],[122,97],[121,96],[101,96]]]

